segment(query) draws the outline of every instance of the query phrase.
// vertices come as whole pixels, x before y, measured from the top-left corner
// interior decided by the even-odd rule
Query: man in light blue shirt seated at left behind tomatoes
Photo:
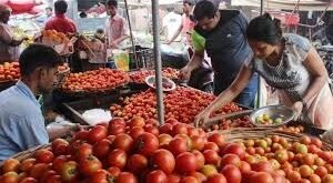
[[[47,45],[31,44],[19,59],[21,80],[0,92],[0,162],[49,139],[68,134],[70,126],[46,129],[37,95],[52,90],[61,64],[59,54]]]

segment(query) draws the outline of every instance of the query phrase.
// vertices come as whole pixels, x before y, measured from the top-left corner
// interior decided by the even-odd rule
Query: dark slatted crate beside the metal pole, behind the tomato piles
[[[131,70],[141,69],[141,68],[148,68],[148,69],[154,68],[154,52],[152,48],[143,48],[140,45],[135,45],[135,54],[137,54],[137,60],[133,51],[130,50]]]

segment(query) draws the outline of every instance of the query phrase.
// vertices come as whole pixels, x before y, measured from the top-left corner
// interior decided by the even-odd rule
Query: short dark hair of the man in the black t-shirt
[[[210,0],[202,0],[195,4],[193,11],[193,18],[196,21],[203,20],[204,18],[211,19],[218,11],[218,6]]]

